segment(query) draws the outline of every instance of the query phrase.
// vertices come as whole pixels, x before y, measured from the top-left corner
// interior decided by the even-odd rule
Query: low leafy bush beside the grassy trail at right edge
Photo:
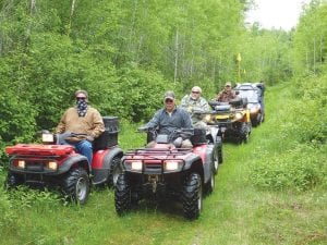
[[[316,149],[310,145],[299,145],[274,157],[271,152],[266,152],[253,163],[251,180],[261,188],[274,191],[306,191],[315,187],[326,181],[323,150],[326,147]]]

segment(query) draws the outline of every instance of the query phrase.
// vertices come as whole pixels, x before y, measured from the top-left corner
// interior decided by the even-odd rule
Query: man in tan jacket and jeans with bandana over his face
[[[64,144],[74,146],[81,155],[87,158],[90,166],[93,158],[92,142],[105,132],[105,124],[98,110],[87,105],[87,91],[76,90],[75,98],[76,106],[69,108],[64,112],[56,128],[56,133],[70,132],[77,134],[68,137]]]

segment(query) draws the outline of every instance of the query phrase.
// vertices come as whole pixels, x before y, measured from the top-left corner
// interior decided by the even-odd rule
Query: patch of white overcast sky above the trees
[[[246,22],[258,22],[264,28],[290,30],[298,24],[303,3],[310,0],[255,0],[256,9],[247,13]]]

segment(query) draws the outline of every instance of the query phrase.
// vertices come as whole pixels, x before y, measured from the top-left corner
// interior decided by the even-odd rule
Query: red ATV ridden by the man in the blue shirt
[[[193,130],[192,130],[193,131]],[[202,210],[203,192],[215,187],[215,145],[207,144],[206,131],[194,130],[193,148],[178,148],[175,138],[193,134],[190,130],[173,131],[171,135],[156,135],[155,143],[145,148],[128,151],[114,188],[114,206],[118,215],[128,212],[132,205],[145,198],[173,197],[183,206],[189,219],[196,219]],[[148,137],[148,142],[152,137]],[[173,144],[174,143],[174,144]]]

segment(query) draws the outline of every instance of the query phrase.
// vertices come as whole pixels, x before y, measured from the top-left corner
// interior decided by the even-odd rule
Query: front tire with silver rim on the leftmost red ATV
[[[65,197],[76,204],[84,205],[89,194],[89,179],[85,169],[70,170],[62,181],[62,191]]]

